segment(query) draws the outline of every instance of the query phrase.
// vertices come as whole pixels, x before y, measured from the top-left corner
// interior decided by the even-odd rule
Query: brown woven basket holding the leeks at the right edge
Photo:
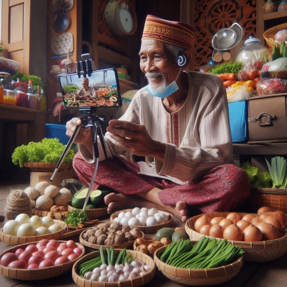
[[[251,193],[252,208],[268,206],[272,210],[287,212],[287,188],[262,188]]]

